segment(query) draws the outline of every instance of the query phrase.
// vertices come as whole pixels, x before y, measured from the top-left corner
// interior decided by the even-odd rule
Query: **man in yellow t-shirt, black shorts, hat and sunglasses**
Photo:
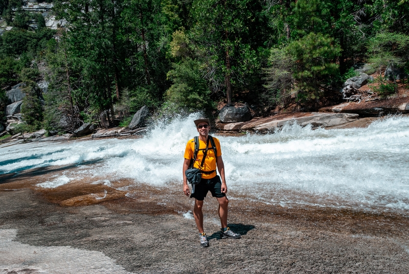
[[[205,231],[203,230],[203,200],[205,199],[207,193],[210,191],[213,197],[216,197],[219,202],[219,217],[221,223],[221,238],[240,238],[240,234],[234,233],[227,226],[227,214],[228,214],[228,204],[229,200],[226,197],[227,186],[226,180],[224,177],[224,164],[223,159],[221,158],[220,142],[218,139],[213,138],[214,144],[216,146],[217,155],[215,155],[214,149],[209,142],[209,131],[210,131],[210,121],[206,118],[200,118],[194,121],[197,132],[199,132],[199,151],[196,156],[196,161],[193,166],[200,169],[201,171],[201,180],[199,184],[192,185],[191,198],[195,198],[195,207],[193,210],[193,216],[195,218],[197,229],[199,230],[200,236],[200,245],[203,247],[209,246],[209,241],[206,236]],[[185,150],[185,162],[183,164],[183,192],[186,196],[189,196],[189,186],[186,178],[185,171],[189,168],[190,161],[193,159],[195,150],[195,141],[194,139],[189,140],[186,145]],[[205,161],[203,165],[202,158],[206,154]],[[221,176],[216,174],[216,165],[217,170]]]

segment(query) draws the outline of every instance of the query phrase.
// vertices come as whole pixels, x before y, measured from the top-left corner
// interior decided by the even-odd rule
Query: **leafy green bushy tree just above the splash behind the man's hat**
[[[173,65],[168,79],[173,82],[166,92],[166,101],[174,110],[189,111],[211,110],[214,108],[210,100],[210,90],[206,80],[202,78],[199,62],[186,58]]]

